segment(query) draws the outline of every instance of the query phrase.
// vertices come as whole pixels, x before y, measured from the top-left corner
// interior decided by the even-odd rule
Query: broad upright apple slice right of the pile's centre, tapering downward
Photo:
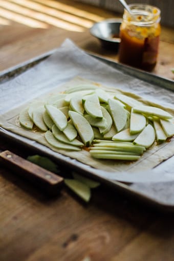
[[[110,112],[117,132],[120,132],[127,121],[126,110],[115,99],[108,99],[108,105],[110,106]]]

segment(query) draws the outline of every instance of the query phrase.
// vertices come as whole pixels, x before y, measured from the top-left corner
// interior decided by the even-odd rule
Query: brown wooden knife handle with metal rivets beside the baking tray
[[[0,153],[0,162],[7,168],[15,171],[18,175],[34,182],[35,185],[44,189],[49,194],[58,194],[63,184],[62,177],[17,156],[9,150]]]

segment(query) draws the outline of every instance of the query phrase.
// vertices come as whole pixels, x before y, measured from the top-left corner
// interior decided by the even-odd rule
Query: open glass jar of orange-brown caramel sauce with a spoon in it
[[[161,33],[160,9],[149,5],[129,5],[120,26],[119,61],[152,71],[157,62]]]

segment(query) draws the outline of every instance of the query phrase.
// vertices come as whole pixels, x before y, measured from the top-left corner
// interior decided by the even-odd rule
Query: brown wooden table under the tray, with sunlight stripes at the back
[[[67,0],[18,1],[18,5],[15,2],[0,2],[1,71],[59,47],[67,37],[84,50],[117,60],[117,55],[103,50],[89,32],[94,22],[117,16],[114,12]],[[37,5],[30,7],[31,3]],[[28,7],[24,9],[24,5]],[[38,7],[42,8],[42,15],[34,20]],[[57,18],[51,19],[51,11]],[[24,13],[32,19],[24,19]],[[42,28],[31,27],[39,19]],[[78,24],[77,32],[57,24],[69,29]],[[169,79],[173,79],[173,32],[162,29],[159,62],[154,72]],[[23,157],[32,153],[2,137],[0,148]],[[82,203],[66,188],[51,199],[13,171],[1,166],[0,173],[1,261],[174,260],[173,214],[158,212],[104,185],[93,191],[89,204]]]

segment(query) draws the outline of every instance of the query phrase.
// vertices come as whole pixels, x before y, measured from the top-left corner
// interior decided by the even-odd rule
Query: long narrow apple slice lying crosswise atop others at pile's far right
[[[146,105],[141,105],[141,106],[136,106],[133,108],[134,113],[142,113],[145,115],[150,115],[150,116],[156,116],[161,119],[172,119],[173,116],[161,108],[153,107],[153,106],[146,106]]]

